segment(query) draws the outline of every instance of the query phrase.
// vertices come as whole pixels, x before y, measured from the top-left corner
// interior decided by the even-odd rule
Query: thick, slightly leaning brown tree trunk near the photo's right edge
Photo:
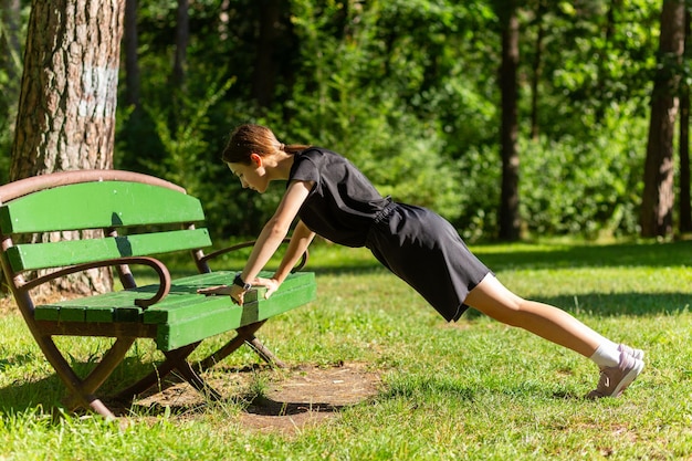
[[[673,134],[683,50],[684,0],[663,0],[639,217],[642,237],[667,237],[673,229]]]

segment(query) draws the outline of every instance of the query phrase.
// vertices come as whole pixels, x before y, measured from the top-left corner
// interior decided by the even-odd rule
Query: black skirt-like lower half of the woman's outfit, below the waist
[[[448,322],[461,317],[469,292],[491,273],[449,221],[421,207],[389,203],[370,228],[366,247]]]

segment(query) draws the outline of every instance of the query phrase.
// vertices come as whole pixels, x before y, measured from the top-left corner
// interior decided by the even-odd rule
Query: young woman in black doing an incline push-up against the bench
[[[269,297],[319,234],[347,247],[367,247],[448,322],[473,307],[590,358],[600,369],[600,379],[588,398],[619,396],[643,369],[642,350],[605,338],[557,307],[512,293],[469,251],[448,221],[428,209],[381,197],[338,154],[286,146],[266,127],[242,125],[232,133],[222,158],[243,188],[263,193],[271,181],[287,184],[233,284],[205,293],[230,294],[242,304],[245,291],[261,284],[268,287]],[[300,220],[275,274],[258,279],[296,217]]]

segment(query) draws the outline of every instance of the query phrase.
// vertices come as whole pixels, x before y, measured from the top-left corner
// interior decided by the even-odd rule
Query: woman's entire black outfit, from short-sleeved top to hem
[[[298,211],[318,235],[346,247],[367,247],[448,322],[468,306],[469,291],[491,271],[438,213],[384,198],[346,158],[311,147],[295,154],[289,182],[314,181]]]

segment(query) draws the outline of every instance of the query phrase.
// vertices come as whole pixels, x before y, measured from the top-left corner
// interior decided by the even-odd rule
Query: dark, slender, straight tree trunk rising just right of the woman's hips
[[[500,197],[500,239],[517,240],[520,238],[521,219],[518,212],[518,171],[520,158],[516,150],[517,139],[517,83],[518,66],[518,19],[513,0],[506,1],[506,14],[502,31],[502,69],[500,85],[502,90],[502,191]],[[502,15],[501,15],[502,18]]]

